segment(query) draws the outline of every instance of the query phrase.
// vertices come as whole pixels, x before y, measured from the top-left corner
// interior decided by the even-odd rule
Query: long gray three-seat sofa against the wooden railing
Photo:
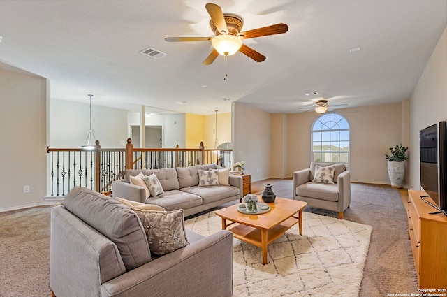
[[[112,182],[112,197],[159,205],[166,210],[183,209],[185,217],[240,199],[243,185],[240,175],[229,175],[228,185],[199,186],[198,171],[223,169],[217,164],[151,170],[126,169],[124,178]],[[147,197],[143,187],[130,183],[130,176],[154,173],[163,187],[163,194]]]

